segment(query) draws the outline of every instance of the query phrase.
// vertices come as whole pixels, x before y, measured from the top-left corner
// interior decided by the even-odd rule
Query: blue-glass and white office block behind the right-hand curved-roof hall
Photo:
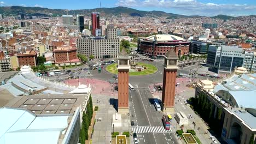
[[[222,45],[220,47],[219,50],[219,46],[209,46],[206,65],[216,68],[218,73],[231,73],[236,67],[242,67],[245,58],[242,48],[237,45]]]

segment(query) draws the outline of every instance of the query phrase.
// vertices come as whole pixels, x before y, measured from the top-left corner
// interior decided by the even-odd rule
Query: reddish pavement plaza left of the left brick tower
[[[91,84],[92,88],[92,94],[103,94],[103,95],[113,95],[113,96],[118,96],[117,91],[114,90],[114,84],[110,84],[109,82],[106,81],[101,81],[97,79],[70,79],[64,81],[67,85],[71,86],[78,86],[79,82],[81,84],[84,84],[89,87],[89,83]]]

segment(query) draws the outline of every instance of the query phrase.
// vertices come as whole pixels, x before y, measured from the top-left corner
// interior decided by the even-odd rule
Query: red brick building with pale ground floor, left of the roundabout
[[[57,47],[53,50],[54,62],[57,66],[80,64],[77,58],[77,48],[72,46]]]

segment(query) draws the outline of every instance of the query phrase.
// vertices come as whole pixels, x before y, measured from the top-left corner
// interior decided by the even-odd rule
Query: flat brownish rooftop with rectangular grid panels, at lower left
[[[37,94],[16,97],[5,106],[27,109],[36,114],[74,113],[86,99],[84,94]]]

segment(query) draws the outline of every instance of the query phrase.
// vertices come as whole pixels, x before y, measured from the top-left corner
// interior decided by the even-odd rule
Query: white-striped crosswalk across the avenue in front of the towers
[[[166,130],[164,127],[132,127],[133,133],[170,133],[172,130]]]

